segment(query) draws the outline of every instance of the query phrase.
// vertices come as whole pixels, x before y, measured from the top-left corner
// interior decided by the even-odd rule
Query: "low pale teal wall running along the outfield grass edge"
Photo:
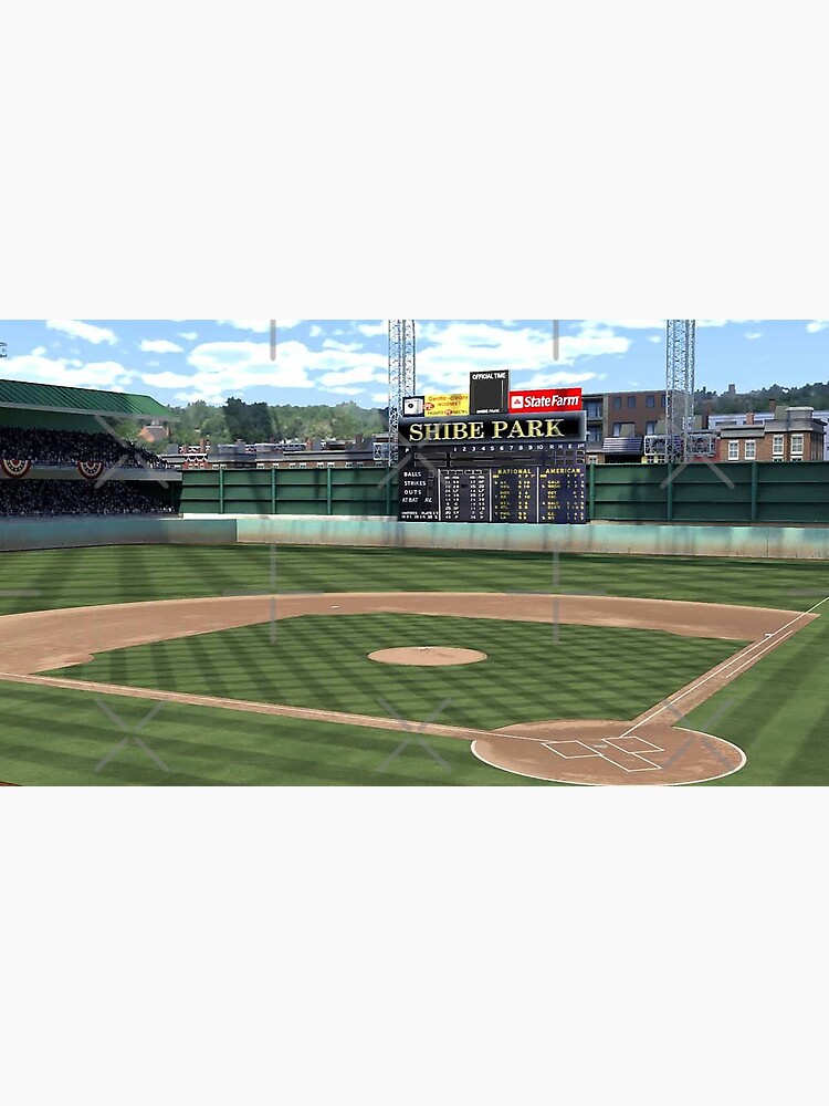
[[[397,522],[388,518],[185,515],[0,522],[0,549],[92,545],[374,545],[829,560],[829,526],[605,523],[584,526]]]

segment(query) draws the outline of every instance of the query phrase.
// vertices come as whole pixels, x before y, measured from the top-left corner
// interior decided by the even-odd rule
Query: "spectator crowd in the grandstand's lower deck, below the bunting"
[[[122,480],[0,480],[1,518],[61,514],[172,514],[156,495]]]

